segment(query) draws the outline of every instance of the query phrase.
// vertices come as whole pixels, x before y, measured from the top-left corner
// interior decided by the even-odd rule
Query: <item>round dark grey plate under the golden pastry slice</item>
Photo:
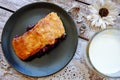
[[[35,24],[50,12],[56,12],[63,21],[67,37],[55,49],[32,61],[20,60],[13,50],[11,41],[15,35],[25,32],[28,25]],[[2,33],[2,49],[7,61],[19,72],[41,77],[64,68],[74,56],[78,42],[74,21],[61,7],[45,2],[26,5],[17,10],[7,21]]]

